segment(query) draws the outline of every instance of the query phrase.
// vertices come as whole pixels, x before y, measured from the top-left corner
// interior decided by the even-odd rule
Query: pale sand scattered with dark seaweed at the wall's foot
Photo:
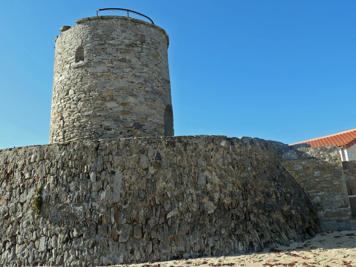
[[[124,267],[356,267],[356,231],[329,231],[311,240],[265,249],[258,253],[201,257]]]

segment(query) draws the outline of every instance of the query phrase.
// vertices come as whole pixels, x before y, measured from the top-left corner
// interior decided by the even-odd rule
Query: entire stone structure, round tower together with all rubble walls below
[[[336,146],[173,137],[166,32],[76,22],[56,39],[50,144],[0,150],[1,266],[246,253],[356,228]]]

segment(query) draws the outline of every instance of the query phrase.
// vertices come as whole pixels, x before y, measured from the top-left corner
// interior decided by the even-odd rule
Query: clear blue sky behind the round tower
[[[59,28],[107,7],[170,36],[176,135],[291,144],[356,128],[355,0],[12,0],[0,16],[0,149],[48,143]]]

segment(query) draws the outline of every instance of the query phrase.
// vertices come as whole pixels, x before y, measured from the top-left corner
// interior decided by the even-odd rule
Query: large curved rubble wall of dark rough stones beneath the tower
[[[0,264],[107,266],[310,238],[321,231],[316,212],[278,163],[288,149],[179,136],[0,150]]]

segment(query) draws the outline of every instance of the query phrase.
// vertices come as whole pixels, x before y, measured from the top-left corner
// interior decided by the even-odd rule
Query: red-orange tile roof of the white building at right
[[[314,146],[327,146],[327,145],[337,145],[338,147],[345,146],[349,148],[351,145],[356,144],[356,129],[351,129],[348,131],[322,136],[294,144],[310,144]],[[292,144],[290,144],[292,145]]]

